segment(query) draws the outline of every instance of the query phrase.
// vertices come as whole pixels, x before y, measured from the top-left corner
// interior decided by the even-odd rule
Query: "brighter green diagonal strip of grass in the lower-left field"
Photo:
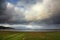
[[[4,38],[4,40],[23,40],[24,38],[24,33],[17,33],[17,34],[13,34],[13,35],[9,35],[7,37]]]

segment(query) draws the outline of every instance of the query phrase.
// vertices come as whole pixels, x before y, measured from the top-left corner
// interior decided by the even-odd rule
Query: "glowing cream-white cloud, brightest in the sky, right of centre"
[[[32,5],[28,10],[26,10],[25,18],[28,21],[32,20],[42,20],[49,18],[48,10],[41,3],[36,3]]]

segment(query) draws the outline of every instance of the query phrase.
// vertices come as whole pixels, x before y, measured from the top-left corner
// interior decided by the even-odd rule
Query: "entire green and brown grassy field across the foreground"
[[[60,40],[60,32],[0,31],[0,40]]]

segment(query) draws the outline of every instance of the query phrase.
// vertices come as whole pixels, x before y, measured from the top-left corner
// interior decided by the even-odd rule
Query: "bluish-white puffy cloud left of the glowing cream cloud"
[[[17,5],[7,3],[7,10],[6,13],[10,15],[9,21],[18,21],[18,20],[23,20],[23,13],[24,13],[24,8],[20,8]]]

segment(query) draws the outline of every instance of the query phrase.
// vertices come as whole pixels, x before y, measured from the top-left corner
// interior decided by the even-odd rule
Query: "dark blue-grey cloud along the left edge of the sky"
[[[6,1],[5,0],[0,0],[0,23],[7,22],[9,17],[5,13],[6,10]]]

